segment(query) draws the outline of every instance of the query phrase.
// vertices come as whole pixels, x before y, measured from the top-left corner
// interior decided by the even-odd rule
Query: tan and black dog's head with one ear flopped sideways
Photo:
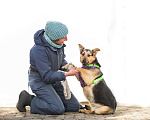
[[[80,62],[83,65],[91,64],[96,59],[96,54],[100,51],[99,48],[93,50],[85,49],[81,44],[79,44],[80,49]]]

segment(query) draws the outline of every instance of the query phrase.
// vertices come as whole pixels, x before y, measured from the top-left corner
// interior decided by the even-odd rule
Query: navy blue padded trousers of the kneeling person
[[[57,115],[79,110],[80,104],[72,93],[69,100],[65,99],[61,82],[55,84],[44,83],[35,87],[38,81],[32,81],[37,77],[34,74],[36,73],[31,71],[29,75],[31,89],[36,95],[31,102],[31,113]]]

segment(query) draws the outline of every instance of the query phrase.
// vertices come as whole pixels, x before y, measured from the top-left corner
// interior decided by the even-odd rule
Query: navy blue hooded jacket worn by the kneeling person
[[[67,64],[64,59],[66,45],[64,44],[62,48],[54,48],[45,40],[43,34],[44,29],[37,31],[34,35],[35,45],[30,50],[30,67],[38,71],[35,74],[39,74],[39,78],[36,79],[40,83],[52,84],[65,80],[64,72],[58,70]]]

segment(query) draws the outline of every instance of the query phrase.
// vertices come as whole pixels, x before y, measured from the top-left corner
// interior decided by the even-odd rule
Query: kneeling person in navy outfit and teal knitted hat
[[[45,30],[35,33],[35,45],[30,50],[29,84],[36,96],[22,91],[16,106],[20,112],[25,112],[26,106],[30,106],[31,113],[49,115],[79,110],[80,104],[72,93],[69,100],[65,99],[61,84],[78,71],[75,67],[69,72],[58,71],[67,64],[64,59],[67,34],[66,25],[56,21],[47,22]]]

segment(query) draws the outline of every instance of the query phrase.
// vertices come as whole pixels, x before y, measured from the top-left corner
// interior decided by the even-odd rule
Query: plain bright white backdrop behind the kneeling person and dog
[[[149,6],[149,0],[1,1],[0,106],[15,106],[21,90],[28,90],[33,35],[51,20],[69,29],[65,43],[68,62],[81,67],[79,43],[100,48],[97,58],[117,102],[150,106]],[[76,78],[68,77],[68,81],[77,99],[85,101]]]

